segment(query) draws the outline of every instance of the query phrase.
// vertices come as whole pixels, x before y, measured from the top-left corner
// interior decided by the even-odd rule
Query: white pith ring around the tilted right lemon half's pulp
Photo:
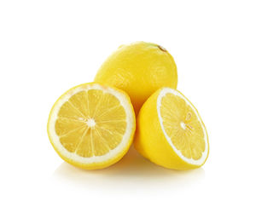
[[[186,158],[183,156],[182,152],[180,152],[176,146],[173,145],[172,143],[172,140],[171,138],[166,134],[166,129],[164,128],[164,125],[163,125],[163,119],[161,118],[160,116],[160,106],[161,106],[161,100],[162,98],[168,94],[168,93],[171,93],[173,95],[177,95],[179,97],[181,97],[183,100],[185,100],[185,102],[192,108],[192,110],[195,112],[195,115],[196,115],[196,118],[199,120],[199,122],[201,123],[201,127],[203,129],[203,133],[204,133],[204,141],[205,141],[205,151],[202,153],[202,156],[200,159],[198,160],[195,160],[193,158]],[[166,136],[166,140],[168,141],[169,145],[172,146],[172,149],[177,153],[178,157],[179,158],[182,158],[183,161],[189,163],[189,164],[194,164],[194,165],[201,165],[205,162],[206,158],[207,158],[207,154],[208,154],[208,136],[207,136],[207,130],[205,129],[202,121],[201,121],[201,118],[198,114],[198,112],[196,111],[195,107],[189,102],[189,100],[187,100],[180,92],[178,92],[177,90],[175,89],[170,89],[170,88],[163,88],[161,91],[160,91],[160,94],[158,95],[158,98],[157,98],[157,113],[158,113],[158,118],[160,120],[160,126],[161,126],[161,129],[162,131],[164,132],[164,135]]]

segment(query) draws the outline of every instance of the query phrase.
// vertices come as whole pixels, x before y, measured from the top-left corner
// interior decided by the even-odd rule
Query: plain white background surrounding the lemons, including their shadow
[[[1,217],[255,217],[255,1],[0,1]],[[169,50],[206,123],[201,169],[130,152],[108,169],[64,163],[46,123],[67,89],[123,43]]]

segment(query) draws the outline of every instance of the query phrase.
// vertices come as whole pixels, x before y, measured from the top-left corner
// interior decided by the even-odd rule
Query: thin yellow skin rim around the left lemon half
[[[129,141],[127,141],[127,144],[125,146],[125,149],[123,149],[121,152],[119,152],[115,157],[113,158],[110,158],[104,162],[100,162],[100,163],[91,163],[91,164],[82,164],[82,163],[79,163],[77,161],[74,161],[73,159],[70,159],[70,158],[67,158],[65,157],[64,155],[62,155],[62,153],[56,148],[55,146],[55,143],[53,142],[53,140],[51,139],[50,137],[50,130],[49,130],[49,119],[52,117],[52,113],[53,113],[53,110],[55,108],[55,105],[56,103],[61,100],[61,98],[64,96],[64,95],[67,95],[67,93],[70,93],[73,89],[77,89],[79,86],[84,86],[84,85],[90,85],[90,84],[95,84],[95,83],[84,83],[84,84],[80,84],[78,86],[75,86],[73,87],[72,89],[68,89],[63,95],[61,95],[58,100],[55,101],[55,104],[54,106],[52,106],[50,112],[49,112],[49,118],[48,118],[48,123],[47,123],[47,133],[48,133],[48,137],[49,137],[49,141],[51,143],[51,145],[53,146],[53,148],[55,149],[55,152],[64,160],[66,161],[68,164],[72,164],[73,166],[75,167],[78,167],[78,168],[81,168],[81,169],[105,169],[105,168],[108,168],[109,166],[119,162],[119,160],[121,158],[123,158],[125,156],[125,154],[128,152],[130,146],[131,146],[131,143],[133,141],[133,138],[134,138],[134,135],[135,135],[135,130],[136,130],[136,125],[134,124],[134,127],[131,131],[131,136],[129,138]],[[104,87],[104,84],[102,83],[97,83],[97,84],[100,84],[102,85],[102,87]],[[119,91],[121,92],[123,95],[126,96],[126,98],[129,100],[129,103],[130,103],[130,106],[132,108],[132,105],[131,105],[131,100],[129,98],[129,95],[127,95],[124,91],[120,90],[120,89],[116,89],[114,87],[111,87],[112,89],[115,89],[116,91]],[[135,118],[135,114],[133,112],[133,120],[131,121],[133,123],[136,123],[136,118]]]

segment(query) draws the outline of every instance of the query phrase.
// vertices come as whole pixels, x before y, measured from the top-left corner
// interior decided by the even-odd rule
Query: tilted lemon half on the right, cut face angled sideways
[[[194,169],[208,157],[207,129],[195,106],[179,91],[159,89],[137,117],[135,148],[169,169]]]

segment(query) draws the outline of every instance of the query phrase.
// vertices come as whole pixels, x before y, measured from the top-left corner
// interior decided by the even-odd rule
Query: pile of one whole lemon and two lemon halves
[[[194,169],[208,157],[207,130],[177,91],[177,66],[154,43],[122,45],[93,83],[69,89],[49,113],[49,141],[83,169],[115,164],[132,142],[143,157],[169,169]]]

